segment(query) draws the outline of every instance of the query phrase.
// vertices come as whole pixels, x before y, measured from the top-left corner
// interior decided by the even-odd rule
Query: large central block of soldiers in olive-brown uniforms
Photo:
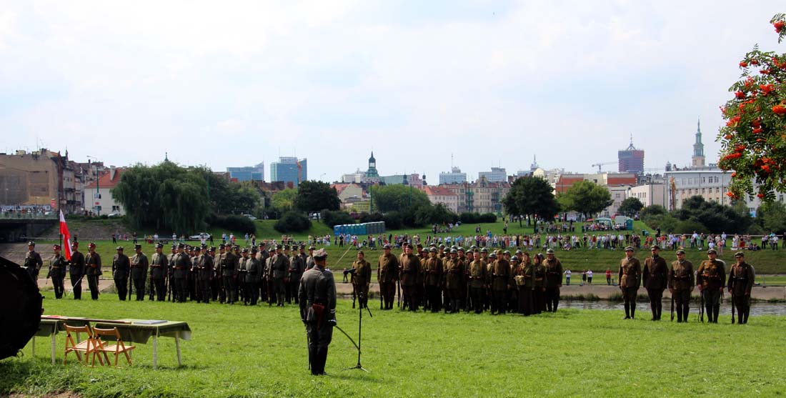
[[[556,311],[560,303],[562,264],[550,249],[545,257],[533,258],[520,250],[511,255],[508,250],[490,252],[474,245],[466,252],[456,246],[405,244],[400,256],[391,253],[390,245],[383,249],[377,260],[377,281],[384,310],[393,308],[397,290],[399,307],[410,311],[422,306],[432,312],[463,309],[531,315]],[[362,252],[352,267],[354,291],[366,305],[370,267]]]

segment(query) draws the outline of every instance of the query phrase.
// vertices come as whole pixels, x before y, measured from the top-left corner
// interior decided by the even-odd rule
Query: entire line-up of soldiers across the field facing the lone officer
[[[88,252],[79,252],[79,243],[72,244],[71,260],[65,260],[61,247],[54,245],[47,278],[52,278],[55,297],[64,297],[64,279],[70,276],[73,298],[81,299],[82,282],[87,280],[90,297],[97,300],[98,278],[101,275],[101,256],[95,244],[88,245]],[[122,246],[116,248],[112,258],[112,278],[119,300],[171,300],[200,303],[257,305],[283,307],[299,304],[301,277],[316,263],[314,246],[271,245],[265,242],[251,249],[237,245],[172,245],[170,253],[163,252],[163,245],[156,244],[150,257],[142,252],[141,245],[134,245],[134,254],[124,254]],[[490,251],[476,246],[402,245],[403,252],[396,256],[391,246],[384,245],[383,253],[376,260],[376,279],[380,285],[380,309],[444,311],[455,313],[472,311],[492,314],[506,312],[534,315],[544,311],[554,312],[560,304],[560,288],[564,275],[562,263],[553,249],[545,256],[516,250]],[[718,322],[718,315],[725,291],[733,307],[733,321],[744,324],[750,315],[751,288],[755,270],[745,262],[744,252],[736,252],[736,262],[727,267],[718,259],[714,249],[707,251],[707,260],[694,267],[685,260],[685,251],[676,252],[677,260],[667,262],[659,256],[660,248],[651,247],[651,256],[642,262],[634,256],[634,248],[625,248],[626,256],[619,264],[619,289],[623,297],[625,319],[635,319],[638,289],[644,286],[650,302],[652,320],[663,314],[663,292],[671,293],[671,319],[688,322],[691,293],[700,290],[699,319]],[[28,244],[24,266],[31,277],[39,274],[42,258],[35,252],[35,242]],[[365,259],[365,252],[358,251],[357,259],[348,270],[351,274],[353,299],[361,308],[368,306],[369,286],[373,278],[373,265]],[[354,308],[354,301],[353,301]]]

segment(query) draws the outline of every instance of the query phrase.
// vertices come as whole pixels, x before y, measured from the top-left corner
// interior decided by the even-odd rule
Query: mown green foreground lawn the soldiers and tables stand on
[[[351,343],[333,335],[327,377],[307,370],[306,338],[294,306],[53,300],[46,314],[189,322],[193,340],[138,345],[134,366],[52,366],[50,342],[36,356],[0,361],[0,395],[43,396],[777,396],[786,389],[781,349],[786,317],[747,326],[621,320],[620,311],[560,310],[518,315],[443,315],[374,311],[364,316],[362,364]],[[643,314],[645,315],[645,314]],[[642,315],[642,318],[644,316]],[[340,300],[337,319],[357,337],[358,313]],[[691,319],[694,317],[692,316]],[[755,337],[755,338],[752,338]],[[57,336],[61,361],[64,334]],[[736,355],[729,355],[733,350]]]

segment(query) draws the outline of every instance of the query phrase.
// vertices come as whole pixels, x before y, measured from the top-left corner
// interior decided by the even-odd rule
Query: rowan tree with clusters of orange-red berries
[[[771,20],[780,43],[786,37],[786,16]],[[740,61],[740,81],[729,88],[734,97],[721,112],[726,120],[718,132],[718,166],[732,170],[732,199],[754,193],[763,201],[786,190],[786,53],[762,52],[758,45]]]

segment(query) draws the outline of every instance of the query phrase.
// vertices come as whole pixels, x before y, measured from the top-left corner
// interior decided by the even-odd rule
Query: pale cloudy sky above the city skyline
[[[279,156],[308,178],[437,183],[590,172],[633,136],[645,168],[708,162],[718,110],[775,1],[0,0],[0,152],[214,171]],[[616,171],[616,164],[604,167]]]

